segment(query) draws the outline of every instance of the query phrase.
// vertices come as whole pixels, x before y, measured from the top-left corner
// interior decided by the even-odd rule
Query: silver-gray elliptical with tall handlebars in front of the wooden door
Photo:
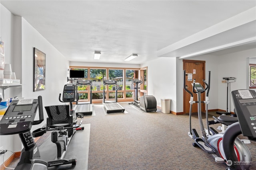
[[[246,147],[246,145],[237,138],[237,134],[235,134],[232,131],[225,131],[225,133],[218,133],[214,128],[209,127],[208,125],[208,104],[209,102],[209,98],[208,98],[208,94],[209,94],[209,90],[210,90],[210,71],[208,72],[208,83],[203,80],[204,84],[206,85],[206,88],[203,88],[203,86],[196,82],[196,80],[193,80],[192,86],[193,86],[193,93],[197,94],[197,99],[198,101],[194,101],[193,99],[193,93],[190,92],[187,88],[186,88],[186,84],[185,84],[185,80],[186,80],[186,70],[183,70],[183,88],[184,90],[186,90],[186,92],[190,93],[190,112],[189,112],[189,123],[190,123],[190,131],[188,132],[188,136],[191,137],[192,139],[194,139],[194,143],[193,146],[194,147],[200,147],[202,150],[204,150],[207,153],[212,154],[212,156],[215,158],[215,161],[217,163],[228,163],[227,162],[227,158],[226,158],[226,154],[227,152],[224,152],[224,149],[228,147],[228,151],[230,152],[235,152],[236,153],[236,159],[238,161],[251,161],[251,155],[250,155],[250,151],[248,150],[248,148]],[[206,92],[206,100],[205,101],[201,101],[201,94]],[[200,130],[202,132],[202,138],[199,137],[196,129],[192,129],[192,124],[191,124],[191,117],[192,117],[192,105],[197,103],[198,105],[198,120],[199,120],[199,125],[200,125]],[[207,124],[207,129],[204,129],[204,125],[203,125],[203,121],[202,121],[202,112],[201,112],[201,103],[204,103],[206,105],[206,124]],[[231,127],[231,125],[230,125]],[[229,127],[228,127],[229,129]],[[231,145],[231,147],[229,147],[230,144],[224,143],[223,142],[223,136],[229,133],[230,136],[232,136],[232,140],[234,145]],[[248,169],[250,166],[248,167],[244,167],[243,170]],[[239,170],[239,168],[238,168]]]

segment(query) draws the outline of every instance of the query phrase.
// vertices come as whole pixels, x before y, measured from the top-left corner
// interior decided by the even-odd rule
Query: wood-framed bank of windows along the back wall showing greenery
[[[147,68],[98,68],[98,67],[84,67],[84,66],[70,66],[70,70],[84,70],[84,79],[92,81],[92,102],[100,103],[103,99],[103,80],[116,80],[118,84],[118,102],[130,102],[134,99],[134,83],[133,78],[146,80]],[[76,78],[74,78],[76,79]],[[76,80],[71,81],[75,83]],[[146,82],[145,82],[146,84]],[[108,85],[105,87],[106,100],[113,100],[115,98],[116,86]],[[90,100],[90,86],[77,86],[80,102]],[[140,85],[142,95],[146,95],[146,86]],[[141,95],[141,96],[142,96]]]

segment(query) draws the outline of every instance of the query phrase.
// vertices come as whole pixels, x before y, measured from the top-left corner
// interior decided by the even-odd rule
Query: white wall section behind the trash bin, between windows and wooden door
[[[148,66],[148,95],[156,98],[157,106],[161,99],[171,99],[170,110],[176,112],[176,58],[157,57],[152,61],[141,64]]]

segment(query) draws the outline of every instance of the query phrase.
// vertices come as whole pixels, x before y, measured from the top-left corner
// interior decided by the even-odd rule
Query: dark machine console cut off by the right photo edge
[[[256,92],[254,90],[234,90],[231,94],[243,135],[255,140]]]

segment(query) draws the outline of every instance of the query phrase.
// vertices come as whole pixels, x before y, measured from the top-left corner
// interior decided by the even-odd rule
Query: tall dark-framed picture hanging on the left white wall
[[[34,92],[45,90],[45,53],[34,47]]]

